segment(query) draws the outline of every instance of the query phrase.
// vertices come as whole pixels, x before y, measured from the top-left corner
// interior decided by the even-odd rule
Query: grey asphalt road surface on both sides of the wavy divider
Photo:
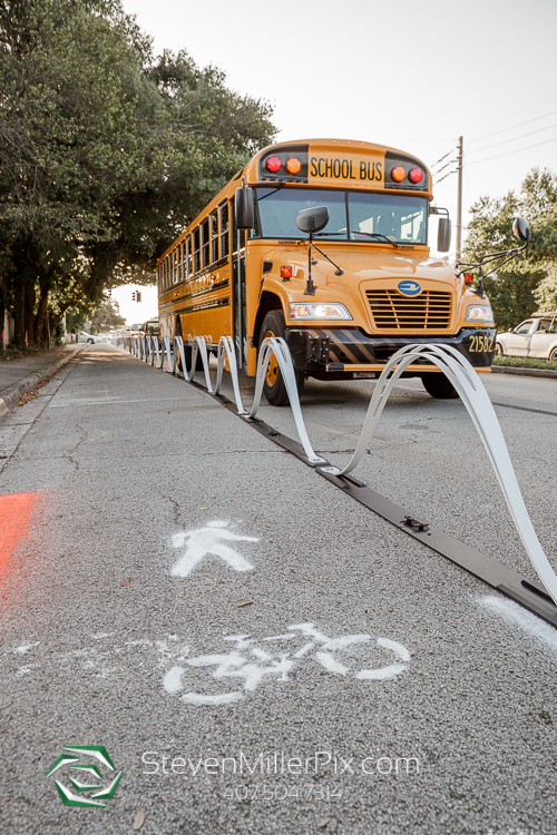
[[[557,567],[557,385],[483,380]],[[307,384],[334,463],[373,385]],[[1,832],[557,833],[557,631],[209,395],[91,346],[0,456]],[[402,381],[355,474],[534,577],[459,401]]]

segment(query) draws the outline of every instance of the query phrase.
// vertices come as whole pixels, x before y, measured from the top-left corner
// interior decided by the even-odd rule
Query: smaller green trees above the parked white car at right
[[[496,325],[505,331],[536,310],[557,308],[557,176],[534,168],[518,193],[504,198],[481,197],[470,209],[465,262],[489,252],[518,246],[512,220],[525,217],[531,226],[528,248],[486,278]]]

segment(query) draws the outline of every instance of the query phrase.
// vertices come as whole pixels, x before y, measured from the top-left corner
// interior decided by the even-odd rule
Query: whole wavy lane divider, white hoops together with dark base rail
[[[261,434],[274,443],[296,455],[305,464],[314,468],[321,477],[341,489],[346,495],[352,497],[378,515],[394,524],[394,527],[422,542],[422,544],[465,568],[548,623],[557,627],[557,577],[534,530],[499,421],[480,377],[476,374],[466,357],[450,345],[408,345],[393,354],[381,373],[373,391],[354,454],[349,463],[341,469],[333,466],[329,461],[319,456],[312,448],[302,416],[292,358],[284,340],[272,337],[264,340],[262,343],[257,361],[255,395],[251,411],[244,409],[242,403],[235,348],[229,336],[221,337],[218,343],[217,377],[214,387],[209,375],[207,346],[203,337],[196,336],[194,342],[188,345],[188,350],[190,351],[190,371],[187,370],[186,350],[180,336],[177,336],[173,344],[169,337],[165,336],[164,350],[158,337],[127,338],[123,342],[123,346],[127,347],[135,356],[152,365],[156,364],[160,370],[165,370],[166,356],[167,369],[172,374],[183,376],[186,382],[203,391],[206,390],[229,411],[248,422]],[[301,443],[277,432],[267,423],[256,418],[261,405],[263,382],[272,354],[275,355],[281,373],[283,374]],[[198,356],[202,360],[206,387],[195,382]],[[512,521],[541,582],[528,580],[514,569],[507,568],[498,560],[487,557],[481,551],[467,546],[465,542],[460,542],[460,540],[444,533],[439,528],[428,522],[419,521],[408,513],[408,511],[374,490],[371,490],[367,484],[363,484],[350,474],[365,453],[389,394],[400,375],[413,362],[423,362],[423,360],[434,363],[458,391],[486,449],[510,510]],[[228,365],[231,372],[235,403],[219,393],[225,363]]]

